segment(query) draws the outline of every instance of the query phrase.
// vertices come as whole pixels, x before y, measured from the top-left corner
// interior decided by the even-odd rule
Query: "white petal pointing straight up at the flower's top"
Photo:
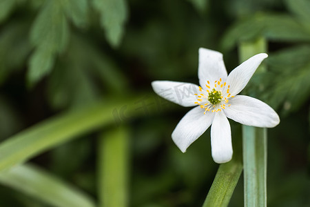
[[[206,88],[207,81],[214,84],[214,81],[219,79],[222,79],[222,81],[227,79],[227,70],[222,53],[199,48],[198,78],[200,86],[203,88]]]

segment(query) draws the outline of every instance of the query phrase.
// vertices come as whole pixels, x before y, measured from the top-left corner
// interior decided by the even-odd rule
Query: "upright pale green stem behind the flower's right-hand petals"
[[[241,43],[239,49],[242,62],[252,55],[266,52],[267,43],[265,39],[260,38]],[[265,70],[262,65],[256,74]],[[254,85],[255,77],[253,79]],[[267,206],[267,129],[242,126],[242,137],[245,206]]]

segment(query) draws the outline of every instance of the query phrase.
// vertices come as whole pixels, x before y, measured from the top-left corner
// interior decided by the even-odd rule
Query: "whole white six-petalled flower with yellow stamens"
[[[196,106],[180,120],[172,139],[182,152],[211,126],[212,157],[217,163],[231,160],[231,130],[227,117],[241,124],[271,128],[279,124],[277,113],[266,103],[238,95],[251,79],[262,60],[260,53],[227,71],[223,55],[214,50],[199,49],[198,78],[200,86],[176,81],[153,81],[154,91],[180,106]]]

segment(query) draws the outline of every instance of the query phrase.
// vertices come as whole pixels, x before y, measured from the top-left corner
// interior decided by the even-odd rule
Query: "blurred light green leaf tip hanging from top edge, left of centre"
[[[101,26],[105,29],[105,37],[114,48],[119,46],[127,19],[125,0],[92,0],[94,8],[101,16]]]

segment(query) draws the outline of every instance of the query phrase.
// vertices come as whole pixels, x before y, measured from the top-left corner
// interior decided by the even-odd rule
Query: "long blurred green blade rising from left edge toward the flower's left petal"
[[[135,116],[145,115],[144,108],[139,104],[141,99],[145,104],[151,104],[146,105],[150,112],[158,112],[154,100],[147,99],[146,95],[138,98],[122,97],[121,100],[110,99],[108,103],[99,102],[72,110],[19,132],[0,144],[0,170],[10,168],[101,126],[119,124]]]

